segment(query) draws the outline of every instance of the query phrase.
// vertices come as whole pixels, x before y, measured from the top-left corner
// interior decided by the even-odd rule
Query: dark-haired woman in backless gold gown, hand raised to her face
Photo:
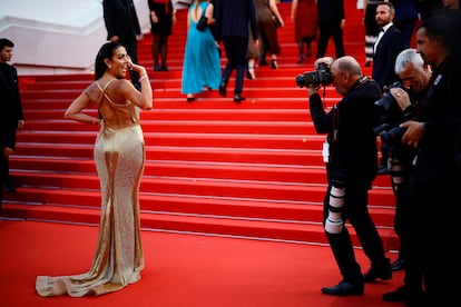
[[[131,62],[126,49],[107,42],[96,57],[96,81],[69,106],[66,118],[100,125],[95,164],[101,189],[101,217],[90,269],[69,276],[38,276],[40,296],[102,295],[140,279],[144,255],[140,240],[139,185],[145,165],[145,143],[139,110],[153,107],[153,90],[141,66]],[[141,90],[125,79],[138,72]],[[97,107],[96,118],[84,110]]]

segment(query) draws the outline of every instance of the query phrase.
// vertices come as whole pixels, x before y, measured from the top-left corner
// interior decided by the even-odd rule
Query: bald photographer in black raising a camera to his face
[[[376,137],[373,131],[377,121],[374,101],[380,99],[381,90],[375,81],[362,75],[359,62],[352,57],[335,61],[332,58],[316,60],[316,68],[323,69],[324,66],[328,68],[326,71],[305,73],[306,82],[303,86],[310,96],[311,116],[317,133],[327,133],[324,160],[328,187],[323,207],[324,229],[343,279],[335,286],[323,287],[322,293],[363,295],[364,281],[392,278],[390,260],[385,257],[382,240],[367,209],[369,190],[377,167]],[[323,76],[320,78],[323,82],[311,81],[312,75]],[[300,78],[296,78],[298,81]],[[343,96],[328,112],[317,92],[321,83],[333,83]],[[362,275],[355,260],[346,220],[354,227],[371,260],[371,269],[365,275]]]

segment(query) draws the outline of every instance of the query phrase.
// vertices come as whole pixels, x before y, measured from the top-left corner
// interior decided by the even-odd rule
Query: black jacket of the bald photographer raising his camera
[[[377,125],[374,101],[380,99],[377,83],[362,77],[328,112],[318,93],[311,95],[311,117],[317,133],[327,133],[330,161],[328,179],[354,181],[371,188],[376,177]],[[365,116],[364,116],[365,115]]]

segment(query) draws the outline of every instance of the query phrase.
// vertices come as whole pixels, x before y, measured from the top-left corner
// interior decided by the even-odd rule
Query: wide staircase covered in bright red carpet
[[[363,62],[362,12],[350,2],[345,49]],[[180,93],[185,10],[178,11],[169,40],[170,71],[153,71],[150,34],[139,42],[139,61],[149,69],[154,88],[154,109],[141,113],[147,146],[140,191],[144,228],[326,242],[322,228],[324,136],[315,133],[307,95],[295,85],[296,75],[313,70],[314,59],[296,65],[291,3],[278,8],[286,24],[279,30],[279,69],[257,68],[257,79],[245,80],[247,100],[241,103],[232,95],[222,98],[216,91],[204,92],[190,103]],[[328,55],[334,55],[333,44]],[[364,72],[370,75],[370,69]],[[92,162],[98,127],[63,119],[69,103],[92,78],[20,77],[27,125],[18,131],[17,154],[10,158],[18,188],[16,194],[4,194],[3,216],[99,222],[99,184]],[[234,79],[230,93],[233,88]],[[334,88],[328,87],[325,105],[337,100]],[[386,248],[395,249],[394,197],[389,181],[389,176],[376,178],[370,208]]]

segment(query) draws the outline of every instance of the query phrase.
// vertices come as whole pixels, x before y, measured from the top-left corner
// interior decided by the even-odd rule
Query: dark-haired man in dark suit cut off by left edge
[[[18,87],[18,72],[8,61],[11,60],[13,42],[9,39],[0,39],[0,210],[3,199],[3,185],[6,190],[14,191],[9,187],[8,157],[14,152],[16,130],[24,126],[21,98]]]

